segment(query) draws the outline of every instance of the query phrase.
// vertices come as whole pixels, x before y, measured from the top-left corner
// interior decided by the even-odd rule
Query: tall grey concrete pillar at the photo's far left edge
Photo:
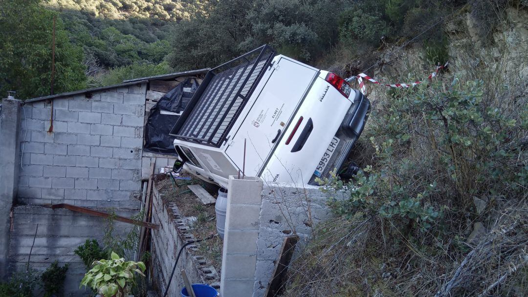
[[[0,115],[0,280],[7,276],[10,213],[18,188],[21,103],[2,99]]]

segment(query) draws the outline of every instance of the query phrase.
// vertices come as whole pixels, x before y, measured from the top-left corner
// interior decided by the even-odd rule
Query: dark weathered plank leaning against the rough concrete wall
[[[298,235],[286,236],[286,238],[284,238],[284,242],[282,242],[282,247],[280,248],[279,260],[275,263],[275,270],[268,283],[266,293],[264,293],[265,297],[277,296],[284,287],[288,265],[290,264],[291,256],[294,254],[295,245],[298,241]]]

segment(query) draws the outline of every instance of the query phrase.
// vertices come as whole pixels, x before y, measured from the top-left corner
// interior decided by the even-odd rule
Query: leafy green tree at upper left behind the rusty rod
[[[29,99],[51,92],[53,18],[41,0],[0,0],[0,94]],[[83,54],[70,44],[60,18],[55,25],[54,92],[86,87]]]

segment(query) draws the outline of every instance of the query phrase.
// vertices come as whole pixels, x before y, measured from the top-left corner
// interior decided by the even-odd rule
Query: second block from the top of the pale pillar
[[[229,205],[228,202],[225,224],[229,230],[258,230],[259,214],[260,205]]]

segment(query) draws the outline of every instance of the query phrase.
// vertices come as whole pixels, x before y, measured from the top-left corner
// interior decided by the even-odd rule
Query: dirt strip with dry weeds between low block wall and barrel
[[[163,196],[164,203],[174,202],[184,217],[194,217],[194,223],[190,224],[191,232],[198,238],[208,237],[216,233],[216,215],[214,204],[203,205],[187,188],[187,185],[201,185],[216,198],[218,196],[218,186],[205,183],[201,179],[182,171],[182,177],[191,177],[190,181],[176,180],[178,185],[174,185],[166,175],[158,175],[156,184],[159,192]],[[196,244],[198,246],[197,256],[202,256],[210,261],[216,270],[221,270],[222,246],[223,242],[219,236],[215,236],[207,241]]]

